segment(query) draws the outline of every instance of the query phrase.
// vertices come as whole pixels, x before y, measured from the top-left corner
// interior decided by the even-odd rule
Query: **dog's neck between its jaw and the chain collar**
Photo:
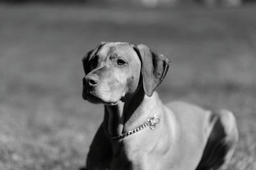
[[[154,117],[160,103],[156,92],[148,97],[142,89],[134,95],[126,96],[125,100],[115,106],[105,105],[104,129],[110,136],[128,132],[144,124],[147,118]]]

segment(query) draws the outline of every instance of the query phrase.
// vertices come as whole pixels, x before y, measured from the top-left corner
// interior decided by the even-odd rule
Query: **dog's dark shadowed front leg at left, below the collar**
[[[111,161],[111,143],[100,125],[90,146],[86,160],[86,170],[107,170]]]

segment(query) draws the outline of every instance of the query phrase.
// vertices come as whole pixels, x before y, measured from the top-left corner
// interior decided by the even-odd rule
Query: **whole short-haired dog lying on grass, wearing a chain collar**
[[[105,112],[85,169],[206,170],[232,157],[238,133],[231,111],[161,102],[155,89],[168,71],[163,54],[100,43],[83,66],[83,98]]]

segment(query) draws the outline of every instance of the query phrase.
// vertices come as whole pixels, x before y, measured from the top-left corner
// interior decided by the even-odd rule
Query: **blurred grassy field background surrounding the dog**
[[[103,106],[83,101],[81,59],[100,41],[172,60],[164,102],[227,108],[240,140],[228,169],[256,169],[256,5],[243,0],[0,1],[0,169],[84,165]]]

